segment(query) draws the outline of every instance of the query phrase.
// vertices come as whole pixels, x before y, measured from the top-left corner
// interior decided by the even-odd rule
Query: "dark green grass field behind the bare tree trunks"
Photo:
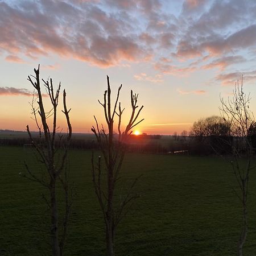
[[[90,151],[70,151],[77,196],[65,255],[105,254],[90,156]],[[23,148],[0,147],[0,255],[51,255],[41,196],[47,192],[19,177],[25,171],[24,160],[37,169],[32,154]],[[118,228],[117,255],[236,255],[241,207],[232,192],[237,186],[228,162],[217,157],[128,154],[119,187],[125,190],[141,174],[135,188],[141,197]],[[250,189],[246,256],[256,255],[254,172]]]

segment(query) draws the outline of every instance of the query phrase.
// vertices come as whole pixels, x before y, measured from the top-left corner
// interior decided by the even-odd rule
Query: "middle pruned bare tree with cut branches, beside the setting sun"
[[[111,106],[111,89],[109,83],[109,77],[107,76],[108,89],[104,93],[104,102],[98,101],[104,109],[105,121],[108,126],[108,130],[104,129],[101,125],[101,129],[98,125],[97,119],[96,127],[92,127],[92,131],[97,138],[97,142],[100,146],[101,154],[104,158],[105,171],[106,171],[106,189],[104,189],[104,184],[102,184],[102,164],[101,157],[98,157],[97,164],[94,164],[94,159],[92,156],[92,176],[94,189],[97,195],[97,199],[100,203],[100,208],[104,216],[104,222],[106,227],[106,249],[109,256],[115,254],[114,249],[114,238],[115,230],[119,222],[126,215],[129,209],[129,204],[138,197],[138,195],[133,193],[134,185],[137,179],[134,180],[133,184],[127,195],[123,197],[119,204],[114,203],[114,192],[119,179],[119,174],[122,167],[123,158],[127,150],[127,142],[132,133],[132,129],[141,123],[144,119],[138,121],[139,114],[143,109],[143,106],[138,109],[137,101],[138,94],[134,94],[131,90],[131,115],[128,124],[124,131],[121,131],[121,121],[124,109],[121,108],[121,103],[118,104],[119,93],[122,85],[119,86],[117,97],[115,98],[114,108]],[[113,126],[114,119],[117,117],[117,130],[118,134],[114,137]]]

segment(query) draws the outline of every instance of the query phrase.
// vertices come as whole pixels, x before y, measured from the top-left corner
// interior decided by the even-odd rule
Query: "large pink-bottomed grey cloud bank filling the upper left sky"
[[[141,1],[141,4],[146,8],[146,2]],[[49,1],[41,2],[41,5],[39,9],[31,2],[32,11],[27,12],[26,9],[14,9],[7,3],[0,3],[0,21],[3,24],[0,25],[0,47],[10,56],[16,56],[16,60],[19,53],[32,58],[57,53],[92,65],[110,67],[123,60],[137,61],[148,56],[146,49],[137,43],[137,36],[122,35],[125,27],[129,28],[127,23],[96,7],[89,5],[85,9],[88,15],[85,15],[68,3]],[[42,13],[44,9],[46,13]],[[11,59],[14,57],[7,60]]]

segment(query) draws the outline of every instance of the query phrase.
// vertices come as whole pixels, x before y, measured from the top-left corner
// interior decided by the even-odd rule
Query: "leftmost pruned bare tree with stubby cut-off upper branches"
[[[45,171],[42,175],[36,175],[36,172],[32,171],[31,167],[29,167],[28,164],[25,163],[28,175],[23,176],[27,177],[30,180],[40,183],[41,185],[48,189],[49,196],[43,197],[44,200],[46,200],[46,203],[51,212],[50,233],[52,254],[54,256],[62,256],[64,253],[65,239],[67,237],[68,218],[73,201],[71,198],[72,191],[69,186],[67,173],[68,147],[72,136],[72,126],[69,119],[69,112],[71,109],[67,109],[66,93],[64,90],[64,110],[62,112],[64,113],[65,119],[67,121],[68,133],[66,136],[64,136],[63,134],[57,134],[57,106],[59,104],[60,83],[55,92],[53,89],[52,79],[49,79],[47,81],[42,79],[52,106],[52,109],[49,112],[47,112],[44,108],[43,94],[41,92],[39,67],[40,66],[38,65],[38,69],[34,69],[35,76],[28,76],[28,81],[31,82],[32,86],[35,89],[31,107],[36,126],[39,130],[39,140],[32,137],[28,125],[27,133],[30,137],[32,145],[35,147],[36,157],[39,160],[39,162],[44,165]],[[37,104],[38,106],[35,106],[35,104]],[[52,131],[51,127],[49,126],[48,118],[52,120]],[[57,148],[56,146],[63,146],[63,148],[60,149]],[[60,184],[62,185],[62,188],[64,189],[65,198],[65,210],[61,225],[61,234],[59,230],[60,221],[58,215],[58,201],[56,198],[57,182],[60,182]]]

